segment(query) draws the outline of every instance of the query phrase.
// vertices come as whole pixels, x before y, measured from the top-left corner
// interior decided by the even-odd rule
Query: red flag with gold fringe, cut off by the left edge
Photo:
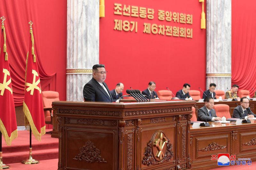
[[[0,130],[6,144],[11,145],[12,140],[18,137],[18,133],[4,25],[0,46],[0,108]]]

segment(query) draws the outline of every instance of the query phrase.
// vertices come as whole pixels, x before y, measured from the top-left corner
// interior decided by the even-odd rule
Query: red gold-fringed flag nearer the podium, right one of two
[[[32,133],[37,140],[45,134],[44,108],[41,96],[41,85],[36,62],[36,50],[34,46],[34,36],[32,22],[30,24],[29,48],[27,54],[25,97],[23,102],[23,112],[25,114],[25,126],[30,125]]]

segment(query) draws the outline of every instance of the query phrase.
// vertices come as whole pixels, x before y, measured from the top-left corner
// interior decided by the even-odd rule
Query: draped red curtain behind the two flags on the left
[[[29,24],[32,20],[42,90],[66,100],[67,0],[1,0],[15,106],[24,100]],[[58,64],[56,64],[58,63]]]

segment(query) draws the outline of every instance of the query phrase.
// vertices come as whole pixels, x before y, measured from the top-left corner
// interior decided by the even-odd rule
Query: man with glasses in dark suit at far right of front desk
[[[240,99],[241,106],[237,106],[233,111],[233,118],[240,118],[240,119],[248,119],[256,117],[256,115],[252,112],[251,108],[249,107],[249,99],[246,97],[242,97]]]

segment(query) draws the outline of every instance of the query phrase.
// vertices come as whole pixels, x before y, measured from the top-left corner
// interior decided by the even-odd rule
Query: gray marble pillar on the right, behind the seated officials
[[[231,0],[206,1],[206,89],[231,88]]]

